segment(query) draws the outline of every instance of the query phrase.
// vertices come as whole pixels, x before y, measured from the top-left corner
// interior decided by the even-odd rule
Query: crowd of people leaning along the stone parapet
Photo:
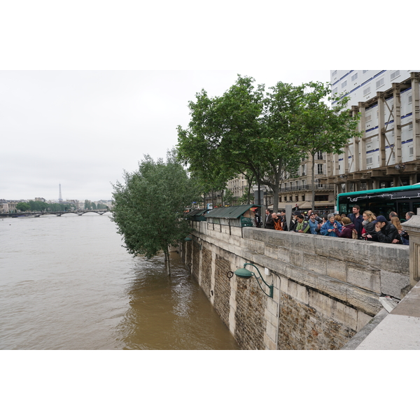
[[[405,219],[409,220],[414,215],[412,211],[405,214]],[[386,244],[409,244],[409,235],[402,228],[400,218],[395,211],[391,211],[385,216],[375,216],[372,211],[363,211],[360,214],[360,207],[353,206],[351,214],[318,215],[312,210],[300,213],[293,212],[293,217],[288,225],[286,213],[279,211],[265,211],[265,228],[274,230],[284,230],[311,235],[323,235],[330,237],[341,237],[349,239],[362,239],[365,241],[384,242]],[[255,225],[262,227],[263,223],[260,216],[255,216]]]

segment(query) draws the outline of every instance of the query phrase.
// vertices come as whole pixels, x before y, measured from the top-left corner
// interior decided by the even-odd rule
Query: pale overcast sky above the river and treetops
[[[241,69],[237,70],[238,73]],[[266,87],[329,80],[325,71],[248,74]],[[109,200],[123,170],[164,158],[188,101],[220,95],[235,71],[1,71],[0,198]]]

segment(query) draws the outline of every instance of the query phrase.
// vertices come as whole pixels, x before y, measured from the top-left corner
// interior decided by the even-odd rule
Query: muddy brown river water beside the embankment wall
[[[238,349],[179,254],[133,258],[108,215],[0,216],[0,349]]]

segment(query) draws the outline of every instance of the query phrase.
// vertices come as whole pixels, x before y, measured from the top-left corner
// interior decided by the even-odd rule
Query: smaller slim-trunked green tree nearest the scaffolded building
[[[297,133],[297,146],[312,157],[312,211],[315,210],[315,155],[340,153],[349,139],[359,136],[357,131],[359,116],[353,116],[346,104],[349,97],[328,97],[329,83],[311,82],[305,86],[300,109],[295,113],[293,131]],[[326,101],[336,101],[330,106]],[[326,176],[327,174],[325,174]]]

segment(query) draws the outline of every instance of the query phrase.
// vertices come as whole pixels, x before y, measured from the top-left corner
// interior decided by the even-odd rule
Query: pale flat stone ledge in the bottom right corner
[[[342,350],[420,350],[420,281],[390,313],[382,309]]]

